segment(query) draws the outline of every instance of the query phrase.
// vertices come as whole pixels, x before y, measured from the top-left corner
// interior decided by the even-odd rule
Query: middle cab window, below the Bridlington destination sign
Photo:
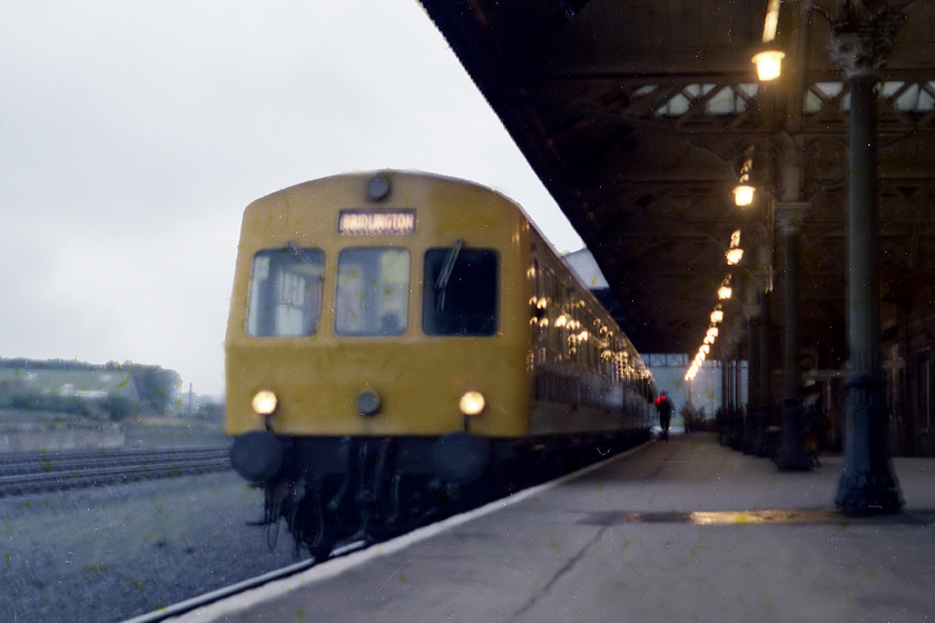
[[[400,248],[350,248],[337,259],[335,330],[393,336],[406,330],[410,254]]]

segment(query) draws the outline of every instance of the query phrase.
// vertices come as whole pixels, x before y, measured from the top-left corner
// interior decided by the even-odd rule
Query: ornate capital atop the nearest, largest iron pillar
[[[830,18],[828,53],[847,78],[876,77],[886,63],[896,31],[906,19],[899,9],[874,0],[845,0]]]

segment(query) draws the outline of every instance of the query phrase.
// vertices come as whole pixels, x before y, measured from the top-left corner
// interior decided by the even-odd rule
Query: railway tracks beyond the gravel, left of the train
[[[227,447],[0,455],[0,497],[230,468]]]

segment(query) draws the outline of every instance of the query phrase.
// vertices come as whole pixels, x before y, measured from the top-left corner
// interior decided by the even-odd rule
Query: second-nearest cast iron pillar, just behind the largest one
[[[783,439],[776,452],[776,466],[783,472],[806,472],[814,467],[815,461],[805,451],[801,429],[801,369],[799,365],[799,243],[801,220],[808,209],[807,202],[783,201],[776,211],[783,231],[785,249],[784,291],[783,291]]]

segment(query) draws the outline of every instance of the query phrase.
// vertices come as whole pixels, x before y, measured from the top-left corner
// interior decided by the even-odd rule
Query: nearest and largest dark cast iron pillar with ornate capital
[[[850,87],[847,208],[850,373],[847,377],[845,454],[835,505],[846,515],[895,513],[902,506],[887,441],[886,378],[880,363],[876,93],[904,16],[870,13],[845,2],[831,24],[829,51]]]

